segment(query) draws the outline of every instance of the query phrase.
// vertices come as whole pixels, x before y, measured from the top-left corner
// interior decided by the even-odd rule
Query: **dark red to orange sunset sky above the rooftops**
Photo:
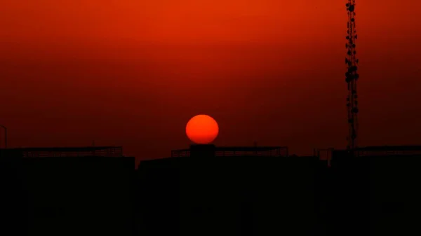
[[[189,141],[345,148],[347,1],[0,2],[0,123],[13,146]],[[421,2],[357,1],[361,145],[420,144]]]

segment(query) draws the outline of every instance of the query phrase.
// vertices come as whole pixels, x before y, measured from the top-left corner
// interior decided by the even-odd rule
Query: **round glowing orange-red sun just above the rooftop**
[[[218,123],[207,115],[194,116],[186,125],[187,137],[196,144],[210,144],[218,132]]]

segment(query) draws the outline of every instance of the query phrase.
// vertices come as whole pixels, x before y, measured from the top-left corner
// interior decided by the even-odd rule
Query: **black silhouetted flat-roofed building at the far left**
[[[121,147],[11,148],[0,160],[1,205],[19,209],[22,235],[132,235],[134,158]]]

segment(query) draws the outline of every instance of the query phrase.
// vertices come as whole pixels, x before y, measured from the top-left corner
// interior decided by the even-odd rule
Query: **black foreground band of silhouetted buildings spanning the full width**
[[[420,158],[1,157],[1,235],[421,235]]]

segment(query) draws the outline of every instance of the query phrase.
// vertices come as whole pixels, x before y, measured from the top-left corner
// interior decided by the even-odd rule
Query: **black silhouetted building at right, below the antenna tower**
[[[330,226],[336,235],[420,235],[421,146],[334,151]]]

